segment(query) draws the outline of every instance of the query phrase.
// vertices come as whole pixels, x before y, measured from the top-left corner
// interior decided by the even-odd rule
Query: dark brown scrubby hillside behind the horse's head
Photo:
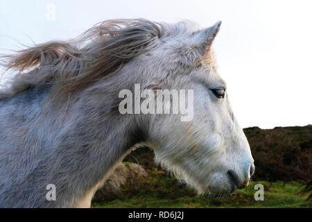
[[[245,128],[256,171],[253,180],[308,180],[312,178],[312,126]],[[125,157],[146,169],[157,167],[149,148],[137,148]]]

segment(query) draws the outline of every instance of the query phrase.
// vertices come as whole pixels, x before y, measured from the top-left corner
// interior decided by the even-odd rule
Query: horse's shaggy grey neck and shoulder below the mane
[[[3,132],[3,138],[12,137],[14,144],[9,152],[16,157],[15,162],[3,168],[8,171],[6,175],[18,175],[6,183],[8,192],[20,195],[20,202],[12,206],[76,207],[86,192],[107,178],[133,145],[146,139],[134,114],[119,113],[116,101],[119,89],[112,91],[112,85],[116,84],[110,82],[85,89],[68,103],[47,103],[47,111],[42,111],[41,102],[49,96],[49,89],[38,91],[35,87],[3,101],[3,107],[10,103],[10,111],[6,110],[5,115],[12,112],[25,117],[18,118],[23,122],[14,122],[15,126],[9,120],[6,124],[8,128],[18,124],[18,135],[13,129]],[[22,138],[21,132],[24,132]],[[19,144],[23,144],[23,152]],[[21,161],[25,157],[28,160]],[[57,201],[42,198],[49,184],[56,187]],[[33,196],[33,203],[29,203],[29,195]]]

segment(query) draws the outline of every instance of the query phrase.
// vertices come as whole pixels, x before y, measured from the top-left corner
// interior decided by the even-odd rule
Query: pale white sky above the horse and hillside
[[[49,3],[55,20],[46,19]],[[75,37],[105,19],[222,20],[214,49],[241,126],[304,126],[312,123],[311,9],[309,0],[0,0],[0,53]]]

